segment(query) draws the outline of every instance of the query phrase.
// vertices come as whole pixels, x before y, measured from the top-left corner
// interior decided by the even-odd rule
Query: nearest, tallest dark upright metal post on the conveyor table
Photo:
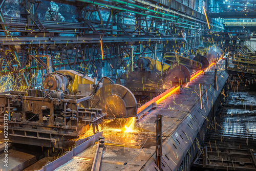
[[[156,165],[161,170],[162,163],[162,123],[163,115],[157,115],[156,125]]]

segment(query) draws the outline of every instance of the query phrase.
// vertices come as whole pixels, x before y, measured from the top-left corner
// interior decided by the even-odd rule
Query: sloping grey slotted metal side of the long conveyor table
[[[190,121],[194,121],[198,125],[198,127],[193,126],[193,128],[196,130],[193,134],[193,137],[191,137],[191,141],[189,140],[189,142],[182,146],[181,144],[179,145],[179,143],[176,141],[175,138],[175,134],[177,134],[177,132],[183,131],[185,130],[187,127],[183,126],[184,124],[179,124],[179,126],[177,126],[176,130],[172,133],[172,135],[170,135],[162,144],[162,148],[163,148],[163,155],[162,155],[162,170],[178,170],[180,165],[182,164],[182,162],[192,162],[194,160],[194,157],[196,156],[196,150],[195,147],[197,147],[197,143],[199,143],[201,145],[201,142],[203,141],[203,137],[205,136],[206,130],[207,130],[207,125],[209,123],[208,119],[211,120],[210,118],[212,118],[212,116],[215,114],[215,112],[218,109],[219,104],[220,103],[220,96],[221,96],[221,92],[223,89],[225,89],[225,84],[226,81],[228,80],[228,73],[226,71],[221,71],[219,72],[219,74],[217,75],[217,80],[218,80],[218,88],[217,90],[214,89],[214,86],[212,85],[212,83],[210,84],[210,86],[207,89],[207,96],[206,93],[202,94],[202,99],[206,99],[207,97],[212,99],[212,105],[210,105],[211,107],[208,110],[204,110],[198,107],[198,105],[194,105],[193,108],[190,109],[191,112],[189,112],[191,115],[190,117],[186,117],[182,122],[183,123],[187,123]],[[210,91],[214,90],[214,91]],[[198,102],[196,102],[198,103]],[[200,103],[200,99],[199,99],[199,103]],[[207,103],[205,104],[205,101],[203,103],[203,105],[207,106]],[[193,116],[193,113],[197,113],[197,116],[204,116],[203,119],[196,119],[195,116]],[[193,118],[193,119],[192,119]],[[205,118],[208,118],[207,120]],[[188,128],[189,129],[189,128]],[[179,133],[178,133],[179,134]],[[195,144],[194,144],[195,143]],[[194,149],[193,149],[194,148]],[[194,154],[192,154],[194,153]],[[190,156],[190,157],[189,157]],[[156,165],[156,160],[155,160],[155,155],[153,155],[145,164],[144,167],[141,170],[159,170],[158,166]],[[187,164],[187,163],[186,163]],[[189,164],[190,165],[190,164]],[[183,169],[184,170],[184,169]]]

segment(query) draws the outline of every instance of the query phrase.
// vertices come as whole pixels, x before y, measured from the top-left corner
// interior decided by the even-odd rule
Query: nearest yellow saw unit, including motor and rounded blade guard
[[[137,101],[133,93],[120,84],[114,84],[108,77],[102,77],[97,83],[76,71],[59,70],[46,77],[44,87],[56,91],[68,90],[74,96],[90,97],[89,101],[81,103],[84,108],[101,109],[109,119],[137,115]]]

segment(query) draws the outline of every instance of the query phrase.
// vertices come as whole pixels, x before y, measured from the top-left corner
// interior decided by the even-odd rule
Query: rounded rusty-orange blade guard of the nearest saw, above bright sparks
[[[137,101],[133,93],[120,84],[104,84],[91,99],[91,108],[102,109],[108,119],[137,115]]]

